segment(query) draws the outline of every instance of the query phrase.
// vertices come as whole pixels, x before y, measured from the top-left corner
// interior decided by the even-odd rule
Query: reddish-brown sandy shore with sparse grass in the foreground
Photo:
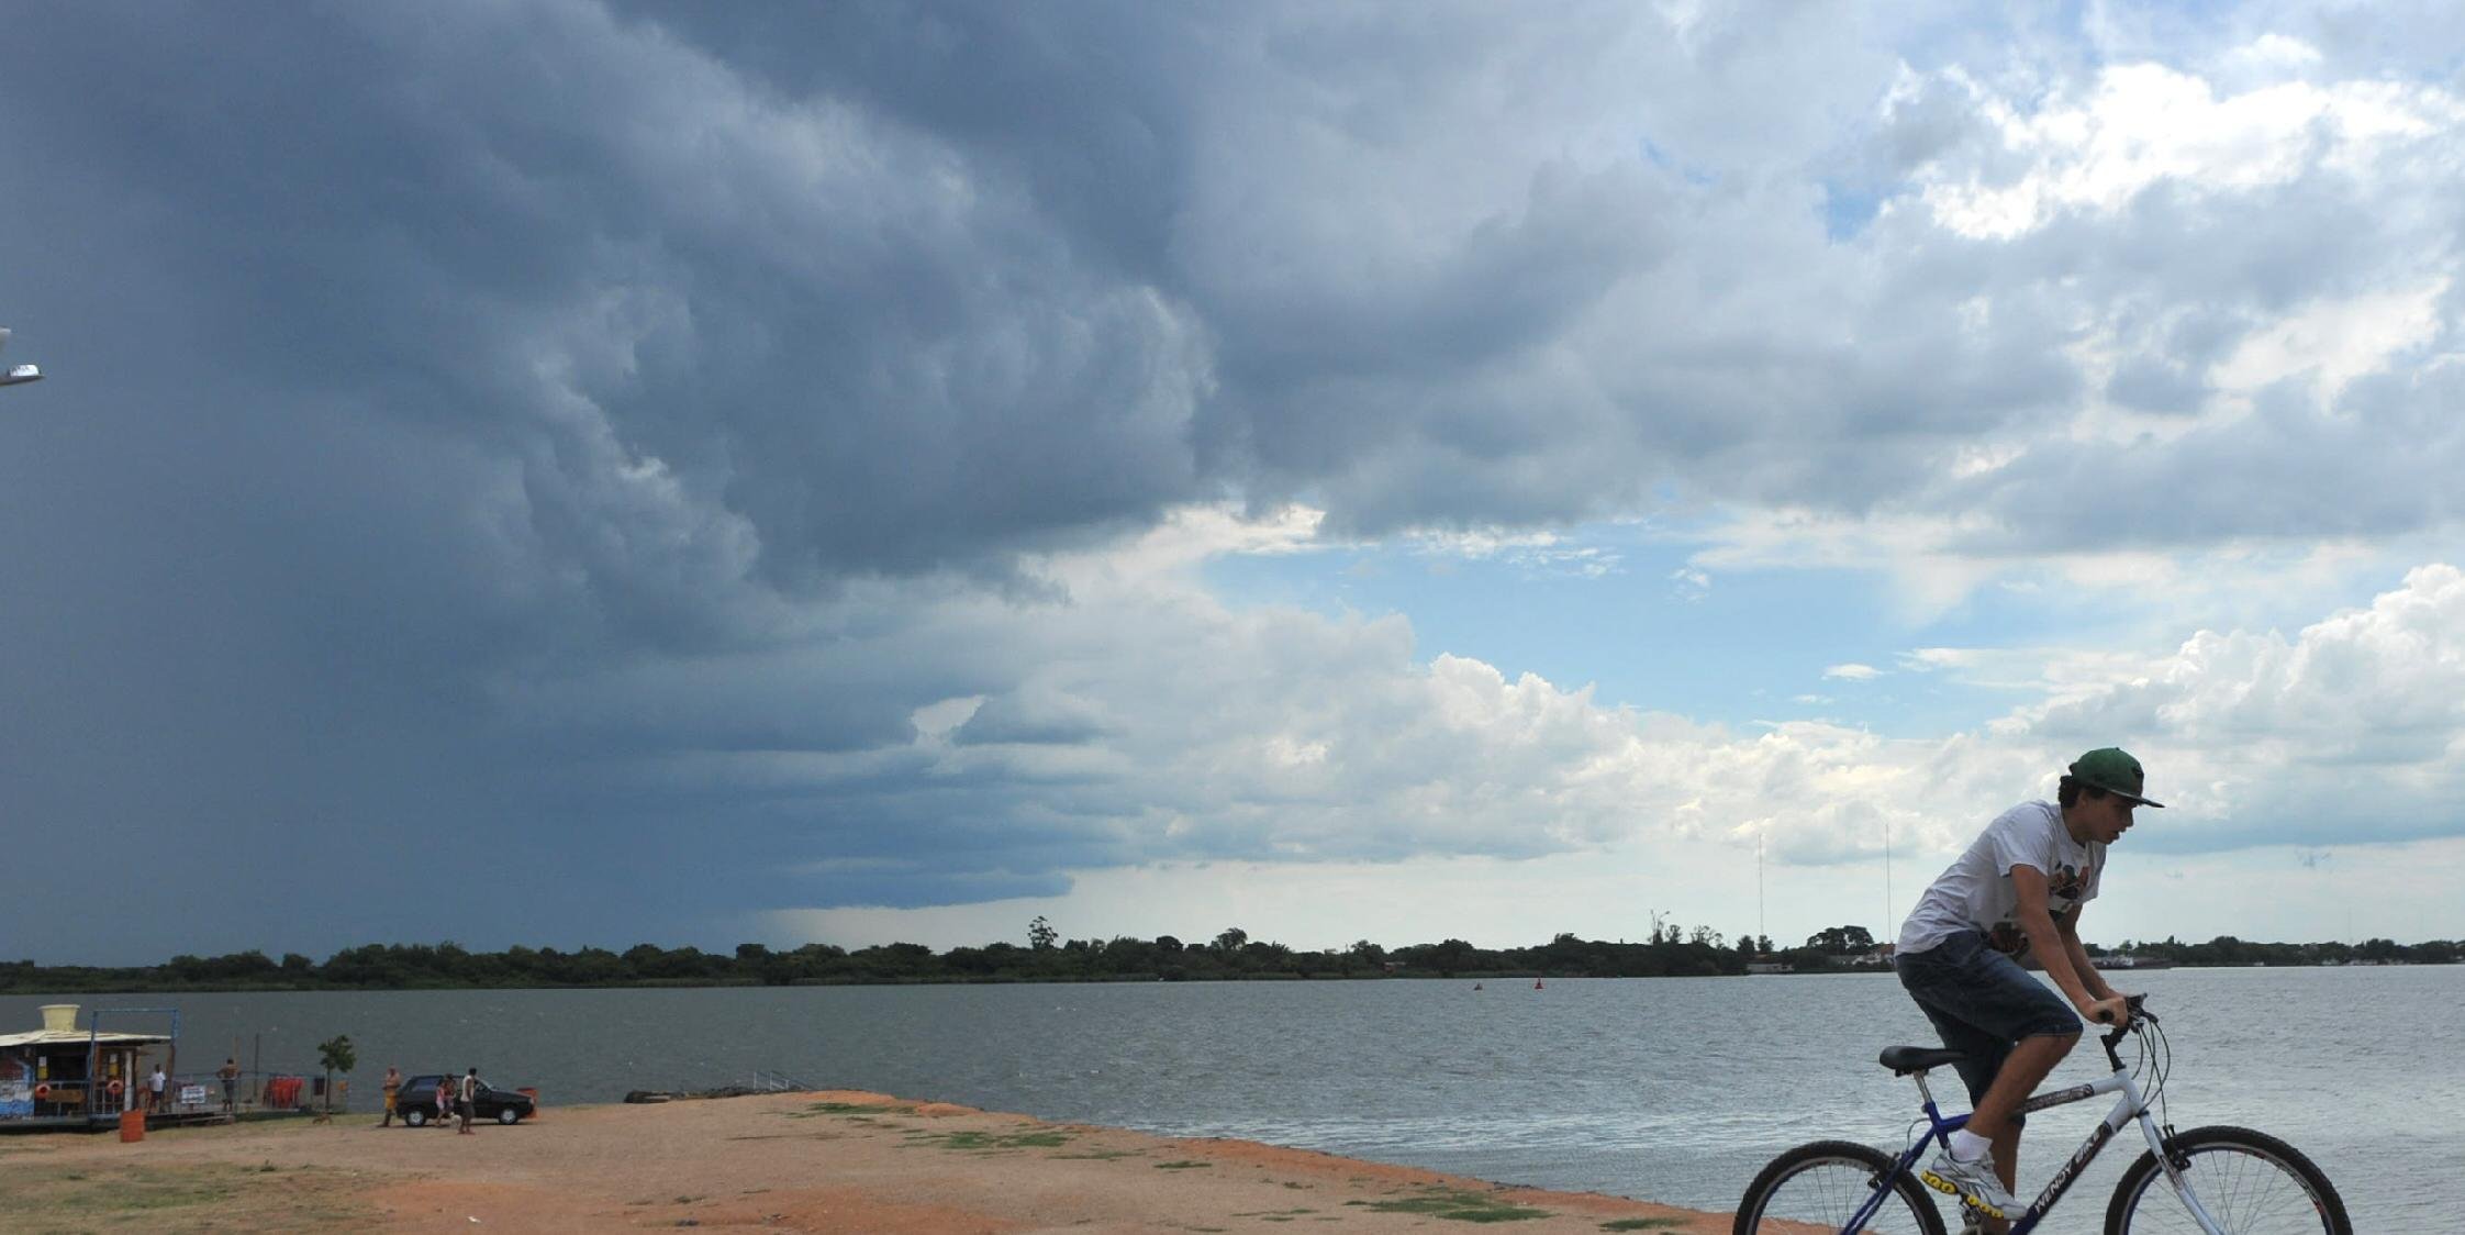
[[[0,1139],[0,1225],[69,1230],[1664,1230],[1728,1218],[1230,1139],[1048,1124],[865,1092],[552,1107],[535,1124],[372,1114]]]

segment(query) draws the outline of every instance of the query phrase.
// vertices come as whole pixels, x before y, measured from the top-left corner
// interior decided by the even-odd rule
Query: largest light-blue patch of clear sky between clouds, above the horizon
[[[1600,705],[1676,712],[1738,732],[1785,720],[1886,735],[1974,727],[2009,712],[2019,703],[2014,690],[1910,668],[1908,651],[2043,634],[2029,631],[2029,621],[1997,629],[2011,611],[2029,611],[2019,597],[1987,597],[1913,626],[1883,574],[1701,574],[1689,565],[1691,550],[1624,528],[1558,540],[1548,552],[1481,557],[1388,542],[1225,557],[1208,567],[1208,584],[1232,606],[1403,614],[1422,663],[1469,656],[1509,678],[1538,673],[1563,690],[1590,683]],[[1605,562],[1612,565],[1602,569]],[[1878,673],[1827,678],[1836,666]]]

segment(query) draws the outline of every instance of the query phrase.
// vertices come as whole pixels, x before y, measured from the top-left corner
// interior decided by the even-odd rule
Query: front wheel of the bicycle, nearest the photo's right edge
[[[2238,1127],[2177,1131],[2164,1141],[2191,1191],[2226,1235],[2354,1235],[2344,1198],[2300,1149]],[[2196,1233],[2191,1213],[2174,1203],[2157,1156],[2142,1151],[2105,1205],[2105,1235]]]

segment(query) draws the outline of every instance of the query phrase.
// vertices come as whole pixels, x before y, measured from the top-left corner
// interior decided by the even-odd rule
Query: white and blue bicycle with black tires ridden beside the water
[[[2021,1104],[2021,1112],[2041,1112],[2083,1102],[2098,1094],[2122,1094],[2078,1151],[2053,1173],[2046,1191],[2029,1200],[2021,1213],[2004,1215],[2011,1235],[2029,1235],[2053,1210],[2056,1200],[2080,1178],[2125,1124],[2137,1122],[2149,1149],[2105,1205],[2105,1235],[2354,1235],[2344,1215],[2344,1198],[2327,1176],[2295,1146],[2238,1127],[2199,1127],[2174,1131],[2159,1124],[2164,1112],[2164,1080],[2174,1065],[2174,1050],[2164,1040],[2157,1018],[2145,1008],[2147,996],[2130,996],[2127,1028],[2103,1035],[2105,1060],[2115,1067],[2110,1077],[2090,1085],[2046,1090]],[[2125,1067],[2115,1050],[2125,1035],[2140,1040],[2140,1058]],[[1765,1166],[1745,1188],[1738,1203],[1735,1235],[1770,1233],[1829,1233],[1859,1235],[1864,1230],[1883,1235],[1945,1235],[1942,1215],[1918,1181],[1915,1164],[1933,1144],[1950,1144],[1950,1134],[1967,1127],[1967,1114],[1945,1117],[1935,1109],[1935,1094],[1925,1087],[1925,1072],[1960,1060],[1957,1050],[1896,1045],[1883,1050],[1881,1062],[1896,1077],[1915,1077],[1925,1109],[1925,1134],[1896,1159],[1881,1149],[1854,1141],[1812,1141]],[[2140,1077],[2147,1077],[2142,1092]],[[2159,1114],[2152,1114],[2154,1107]],[[1910,1131],[1920,1122],[1910,1122]],[[2164,1129],[2159,1134],[2159,1127]],[[2159,1183],[2164,1183],[2159,1188]],[[1940,1183],[1937,1191],[1947,1191]],[[1967,1200],[1962,1200],[1967,1205]],[[1977,1230],[1979,1215],[1967,1210]]]

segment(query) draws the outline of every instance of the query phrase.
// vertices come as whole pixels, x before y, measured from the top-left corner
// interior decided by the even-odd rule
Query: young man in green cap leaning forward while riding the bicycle
[[[1970,1124],[1918,1178],[1957,1193],[1989,1230],[2021,1210],[2011,1198],[2019,1104],[2080,1040],[2080,1016],[2130,1021],[2080,949],[2080,907],[2095,900],[2105,846],[2130,831],[2132,809],[2162,806],[2140,796],[2142,784],[2140,759],[2122,749],[2083,754],[2063,774],[2058,804],[2024,801],[1987,823],[1901,927],[1901,986],[1942,1045],[1962,1053],[1972,1104]],[[2019,966],[2029,952],[2061,996]]]

